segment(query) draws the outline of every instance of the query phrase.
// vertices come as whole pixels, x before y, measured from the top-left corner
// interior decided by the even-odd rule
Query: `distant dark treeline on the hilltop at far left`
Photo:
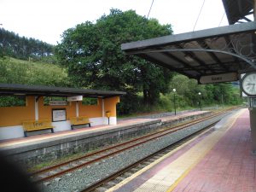
[[[54,46],[38,39],[20,37],[15,32],[0,28],[0,57],[8,55],[22,60],[52,58]],[[53,61],[53,60],[51,60]]]

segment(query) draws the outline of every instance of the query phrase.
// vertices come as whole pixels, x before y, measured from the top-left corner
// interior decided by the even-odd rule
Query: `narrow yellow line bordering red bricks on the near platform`
[[[242,112],[243,112],[243,110],[240,111],[240,113],[236,113],[235,118],[234,118],[233,120],[231,119],[231,120],[232,120],[231,123],[230,123],[230,121],[226,122],[226,124],[229,124],[229,123],[230,123],[230,125],[226,125],[227,127],[224,127],[225,131],[224,131],[222,134],[220,134],[219,137],[218,137],[218,135],[217,135],[218,140],[216,141],[216,143],[218,143],[218,141],[219,141],[222,137],[224,137],[224,134],[225,134],[228,130],[230,130],[230,128],[235,124],[236,119],[240,116],[240,114],[241,114]],[[206,139],[206,138],[205,138],[205,139]],[[183,172],[183,174],[182,174],[180,177],[177,178],[177,180],[172,184],[172,186],[171,186],[169,189],[166,190],[166,192],[172,192],[172,190],[177,187],[177,184],[180,183],[180,182],[183,180],[183,178],[186,177],[186,176],[189,174],[189,172],[206,156],[206,154],[215,146],[216,143],[214,143],[210,148],[208,148],[208,149],[205,151],[205,153],[201,154],[201,157],[199,157],[199,158],[195,161],[195,163],[193,163],[193,165],[189,166],[189,168],[188,168],[185,172]]]

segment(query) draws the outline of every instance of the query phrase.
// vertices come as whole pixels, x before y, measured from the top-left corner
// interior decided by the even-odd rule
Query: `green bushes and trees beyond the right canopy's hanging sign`
[[[189,79],[181,74],[172,78],[170,90],[177,90],[177,106],[198,107],[202,105],[218,104],[241,104],[239,88],[231,84],[197,84],[195,79]],[[198,94],[201,92],[201,96]],[[173,92],[171,94],[173,96]]]

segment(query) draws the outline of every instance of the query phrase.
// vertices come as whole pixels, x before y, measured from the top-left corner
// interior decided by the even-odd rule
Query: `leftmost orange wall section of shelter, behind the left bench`
[[[34,96],[26,96],[26,106],[0,108],[0,126],[21,125],[24,120],[35,119]]]

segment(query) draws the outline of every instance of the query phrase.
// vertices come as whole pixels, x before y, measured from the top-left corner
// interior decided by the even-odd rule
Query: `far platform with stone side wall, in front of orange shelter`
[[[160,118],[119,120],[118,125],[96,125],[72,131],[46,133],[0,142],[0,151],[24,165],[32,166],[68,154],[94,150],[102,146],[138,137],[162,126],[208,115],[209,111],[192,111]]]

